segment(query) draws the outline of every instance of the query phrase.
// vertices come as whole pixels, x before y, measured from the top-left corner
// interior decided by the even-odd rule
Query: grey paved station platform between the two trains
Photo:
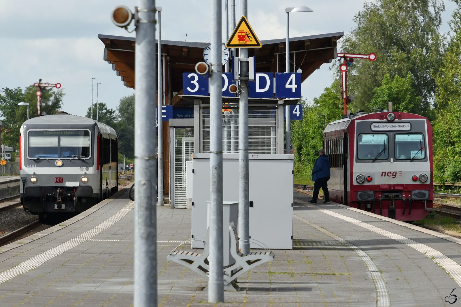
[[[461,239],[295,192],[294,248],[238,278],[219,306],[456,306]],[[166,256],[191,211],[157,209],[160,306],[208,306],[207,281]],[[0,247],[0,306],[132,306],[133,202],[126,189]],[[450,296],[451,295],[451,296]]]

